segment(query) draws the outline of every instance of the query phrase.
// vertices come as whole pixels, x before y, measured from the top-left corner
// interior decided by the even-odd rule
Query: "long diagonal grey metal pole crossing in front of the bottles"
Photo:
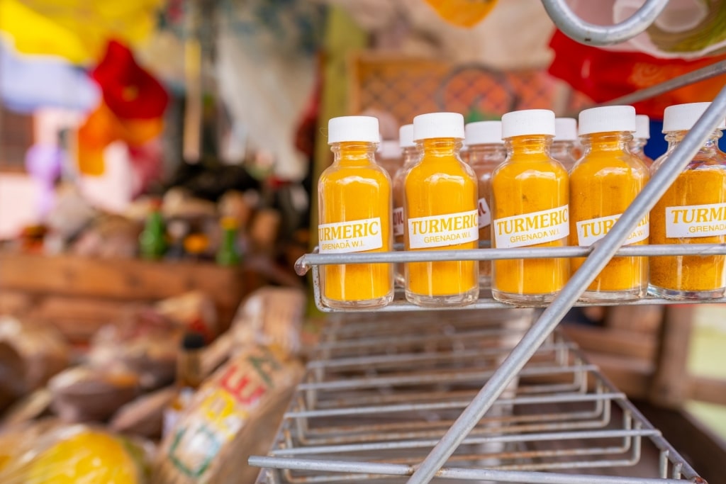
[[[513,377],[534,355],[539,345],[544,343],[544,340],[555,329],[579,295],[590,286],[597,274],[600,274],[600,271],[607,265],[618,247],[625,242],[645,213],[648,213],[653,205],[656,205],[656,202],[660,200],[669,186],[677,179],[683,168],[693,159],[703,142],[722,122],[725,112],[726,86],[719,92],[706,112],[703,113],[696,126],[693,126],[693,129],[685,136],[681,144],[674,149],[668,163],[664,163],[661,169],[656,171],[643,192],[640,192],[633,200],[611,231],[595,244],[595,249],[590,257],[573,274],[558,297],[552,301],[550,307],[544,310],[542,316],[524,335],[520,343],[512,350],[512,353],[505,358],[499,369],[481,388],[469,406],[431,450],[431,453],[421,462],[420,467],[408,480],[409,484],[424,484],[433,479],[436,472],[441,469],[441,466],[454,453],[477,422],[484,417],[486,411],[505,390]]]

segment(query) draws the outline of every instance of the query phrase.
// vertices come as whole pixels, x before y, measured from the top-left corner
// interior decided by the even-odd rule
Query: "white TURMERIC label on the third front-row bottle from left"
[[[494,219],[497,248],[526,247],[570,234],[569,205]]]

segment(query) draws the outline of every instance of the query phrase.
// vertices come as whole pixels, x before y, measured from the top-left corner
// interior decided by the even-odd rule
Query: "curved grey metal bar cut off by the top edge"
[[[661,15],[666,4],[668,0],[646,0],[627,20],[615,25],[595,25],[575,15],[565,0],[542,0],[547,15],[566,36],[593,46],[619,44],[637,36]]]

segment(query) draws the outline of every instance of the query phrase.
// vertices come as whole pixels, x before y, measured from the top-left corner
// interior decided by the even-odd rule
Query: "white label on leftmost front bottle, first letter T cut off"
[[[380,217],[349,222],[321,223],[318,226],[321,254],[363,252],[383,247]]]

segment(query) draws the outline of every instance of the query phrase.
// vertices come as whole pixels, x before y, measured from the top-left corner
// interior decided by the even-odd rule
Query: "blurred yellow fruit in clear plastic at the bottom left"
[[[117,438],[84,430],[43,451],[26,484],[138,484],[134,459]]]

